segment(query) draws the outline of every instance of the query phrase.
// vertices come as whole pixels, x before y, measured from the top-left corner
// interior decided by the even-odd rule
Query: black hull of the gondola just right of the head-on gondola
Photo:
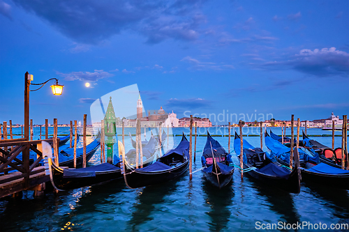
[[[238,158],[239,160],[239,158]],[[247,165],[244,163],[244,169],[251,168],[251,165]],[[297,167],[292,170],[290,173],[290,176],[286,180],[285,178],[280,178],[279,176],[269,176],[265,173],[261,173],[257,170],[251,170],[246,172],[247,176],[251,176],[255,180],[258,180],[262,183],[265,183],[267,185],[271,185],[274,187],[277,187],[281,190],[285,190],[292,193],[299,193],[300,192],[300,180],[298,178],[298,169]]]

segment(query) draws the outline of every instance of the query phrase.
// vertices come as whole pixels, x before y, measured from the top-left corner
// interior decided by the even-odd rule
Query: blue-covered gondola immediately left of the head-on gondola
[[[144,187],[164,183],[183,175],[189,167],[189,142],[183,134],[177,148],[168,150],[156,162],[142,169],[126,171],[125,182],[128,187]]]

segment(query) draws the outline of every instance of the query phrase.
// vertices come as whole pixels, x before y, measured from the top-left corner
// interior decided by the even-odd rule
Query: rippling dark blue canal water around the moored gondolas
[[[238,129],[238,128],[236,128]],[[79,133],[82,134],[81,128]],[[126,134],[135,134],[135,128],[126,128]],[[207,128],[200,128],[206,134]],[[269,131],[269,128],[268,128]],[[19,132],[15,128],[13,133]],[[50,128],[49,134],[53,130]],[[91,132],[91,130],[89,130]],[[121,129],[118,129],[120,134]],[[143,129],[142,129],[143,132]],[[165,128],[167,132],[167,128]],[[188,128],[172,128],[170,134],[189,134]],[[228,134],[226,127],[211,127],[211,134]],[[244,134],[259,134],[259,127],[244,127]],[[273,127],[281,134],[281,128]],[[59,127],[60,134],[68,134],[68,127]],[[38,139],[39,128],[34,128]],[[232,135],[234,130],[232,130]],[[290,129],[286,130],[290,134]],[[331,134],[320,129],[308,129],[307,134]],[[341,132],[336,132],[341,134]],[[147,132],[147,139],[150,134]],[[121,139],[121,137],[118,137]],[[176,146],[181,137],[169,137],[164,150]],[[312,137],[332,146],[332,137]],[[142,136],[142,139],[144,137]],[[201,168],[200,156],[207,137],[197,137],[196,162],[193,171]],[[214,137],[228,150],[228,137]],[[260,146],[260,137],[244,137],[253,146]],[[93,137],[87,137],[87,143]],[[126,152],[131,149],[125,137]],[[230,150],[233,149],[233,137]],[[82,139],[78,146],[82,146]],[[341,146],[341,137],[335,137],[335,146]],[[263,144],[263,149],[267,150]],[[100,162],[100,150],[89,165]],[[238,164],[235,153],[233,161]],[[308,224],[304,231],[316,228],[330,229],[349,224],[349,193],[346,190],[302,183],[299,194],[290,194],[275,187],[256,182],[248,175],[244,180],[235,169],[232,183],[218,190],[207,183],[201,171],[188,172],[162,185],[130,190],[122,182],[83,187],[67,192],[46,192],[34,198],[25,191],[22,198],[0,199],[0,231],[263,231],[274,226],[275,231],[295,231],[291,226]],[[274,224],[274,225],[273,225]],[[312,224],[312,225],[311,225]],[[281,227],[283,226],[283,228]],[[320,226],[320,227],[319,227]],[[263,228],[263,229],[262,229]],[[295,228],[295,227],[294,227]],[[298,227],[298,229],[301,227]],[[268,230],[272,231],[272,230]],[[333,231],[333,230],[331,230]]]

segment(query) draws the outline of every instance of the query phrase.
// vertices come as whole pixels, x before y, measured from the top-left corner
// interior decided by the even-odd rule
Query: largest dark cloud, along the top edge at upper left
[[[1,0],[0,0],[1,1]],[[13,0],[17,6],[43,18],[75,42],[96,45],[132,30],[148,43],[165,39],[196,40],[205,17],[202,0],[193,1],[95,1],[95,0]]]

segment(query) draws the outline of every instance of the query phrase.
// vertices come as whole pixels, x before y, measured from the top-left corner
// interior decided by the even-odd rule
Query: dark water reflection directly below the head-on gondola
[[[232,185],[228,184],[218,190],[202,177],[202,190],[205,192],[204,199],[211,208],[211,211],[206,212],[211,217],[211,222],[208,222],[209,230],[221,231],[226,229],[231,215],[229,206],[232,205],[232,198],[234,197]]]

